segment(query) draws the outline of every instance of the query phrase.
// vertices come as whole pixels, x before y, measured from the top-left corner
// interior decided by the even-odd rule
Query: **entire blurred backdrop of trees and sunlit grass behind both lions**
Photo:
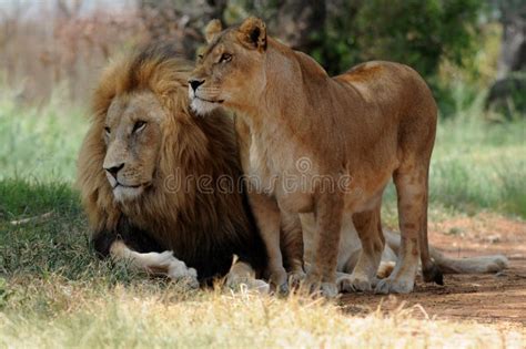
[[[249,16],[330,74],[366,60],[415,68],[441,111],[432,206],[526,217],[524,0],[1,1],[0,181],[71,184],[109,60],[149,40],[193,60],[208,21]],[[395,219],[392,189],[386,202]]]

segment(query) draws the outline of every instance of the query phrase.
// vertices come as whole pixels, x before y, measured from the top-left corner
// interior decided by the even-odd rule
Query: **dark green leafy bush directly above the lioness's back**
[[[428,78],[441,60],[464,64],[474,50],[479,0],[371,0],[328,11],[312,52],[332,73],[367,60],[408,64]]]

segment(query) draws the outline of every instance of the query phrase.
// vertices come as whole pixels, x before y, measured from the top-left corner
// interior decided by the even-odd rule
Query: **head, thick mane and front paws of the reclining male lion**
[[[112,64],[93,95],[79,155],[97,252],[191,285],[260,275],[266,252],[236,182],[233,122],[189,110],[191,65],[166,44]],[[173,254],[172,254],[173,252]]]

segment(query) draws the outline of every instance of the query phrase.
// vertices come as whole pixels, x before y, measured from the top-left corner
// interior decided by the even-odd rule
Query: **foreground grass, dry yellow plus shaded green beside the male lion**
[[[418,308],[355,316],[337,301],[189,291],[94,258],[69,185],[4,179],[0,194],[0,347],[483,348],[524,340],[517,330],[425,319]],[[43,222],[11,223],[49,212]]]

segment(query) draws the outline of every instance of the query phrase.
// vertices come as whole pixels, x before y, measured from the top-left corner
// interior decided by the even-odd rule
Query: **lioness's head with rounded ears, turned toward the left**
[[[218,20],[205,29],[206,48],[189,80],[191,105],[206,114],[220,105],[236,109],[241,99],[257,99],[265,86],[266,25],[256,18],[222,30]]]

